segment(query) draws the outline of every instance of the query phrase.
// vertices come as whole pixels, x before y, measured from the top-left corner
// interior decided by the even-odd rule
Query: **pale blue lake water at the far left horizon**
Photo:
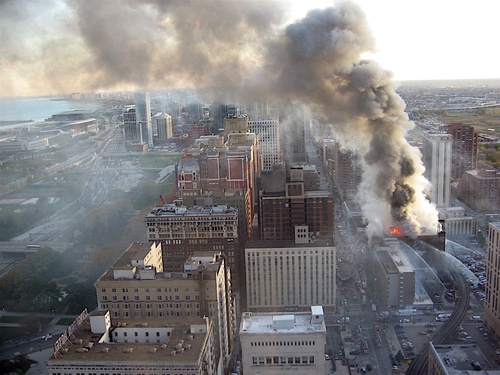
[[[0,121],[44,121],[52,115],[75,109],[93,110],[98,103],[52,98],[1,98]]]

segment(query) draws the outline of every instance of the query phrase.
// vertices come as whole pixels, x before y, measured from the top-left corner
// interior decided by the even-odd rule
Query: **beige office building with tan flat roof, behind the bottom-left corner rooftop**
[[[150,248],[149,248],[150,246]],[[184,272],[158,272],[159,245],[136,243],[95,283],[98,309],[129,324],[150,319],[208,317],[227,366],[236,322],[230,271],[221,253],[197,252]],[[150,262],[146,261],[150,259]]]

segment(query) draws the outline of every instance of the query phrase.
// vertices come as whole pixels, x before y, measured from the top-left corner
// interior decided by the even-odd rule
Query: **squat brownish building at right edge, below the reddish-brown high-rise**
[[[466,171],[458,184],[458,198],[477,212],[500,211],[500,172]]]

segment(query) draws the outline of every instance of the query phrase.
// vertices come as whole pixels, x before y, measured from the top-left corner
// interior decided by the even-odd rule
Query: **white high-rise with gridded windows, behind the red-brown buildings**
[[[257,134],[262,169],[269,170],[274,164],[280,163],[279,120],[250,120],[248,128],[250,133]]]

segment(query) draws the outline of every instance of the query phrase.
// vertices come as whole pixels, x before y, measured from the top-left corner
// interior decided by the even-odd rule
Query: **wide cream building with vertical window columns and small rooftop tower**
[[[245,248],[249,311],[303,310],[311,305],[335,309],[333,239],[309,240],[307,227],[295,241],[249,241]]]

